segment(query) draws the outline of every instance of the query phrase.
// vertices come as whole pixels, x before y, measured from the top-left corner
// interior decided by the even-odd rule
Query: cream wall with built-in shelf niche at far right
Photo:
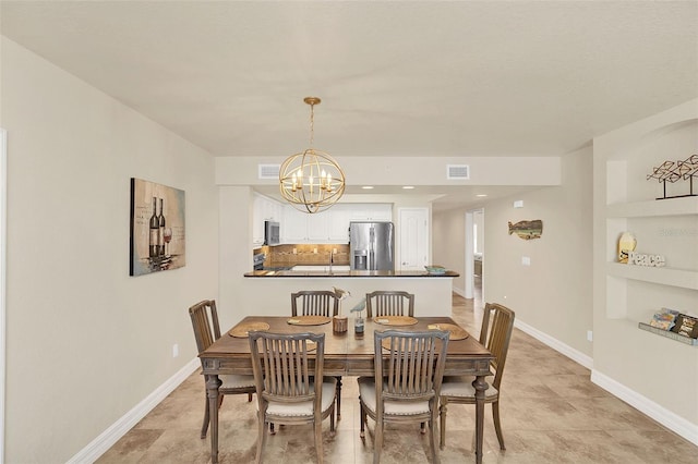
[[[660,254],[667,269],[696,272],[698,217],[695,215],[606,219],[606,205],[649,202],[662,196],[646,180],[665,160],[685,160],[698,146],[698,99],[595,137],[594,151],[594,377],[604,388],[698,444],[698,351],[695,346],[642,330],[661,307],[698,314],[695,286],[606,277],[614,259],[619,223],[633,231],[640,253]],[[613,164],[609,164],[611,161]],[[621,162],[622,170],[613,172]],[[687,194],[687,180],[669,185],[669,194]],[[694,180],[694,192],[696,181]],[[672,200],[657,204],[671,208]],[[653,206],[653,205],[652,205]],[[663,271],[663,270],[662,270]],[[695,282],[694,274],[694,282]],[[695,284],[694,284],[695,285]],[[625,304],[621,304],[625,301]]]

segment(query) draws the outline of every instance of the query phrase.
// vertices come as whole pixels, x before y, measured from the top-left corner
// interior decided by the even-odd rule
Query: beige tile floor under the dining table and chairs
[[[515,309],[515,308],[514,308]],[[453,317],[477,335],[482,303],[454,295]],[[589,369],[514,330],[502,384],[501,414],[506,451],[500,451],[492,412],[485,406],[484,463],[698,463],[698,447],[609,394],[589,380]],[[529,375],[535,366],[535,375]],[[542,375],[541,375],[542,374]],[[356,378],[345,377],[341,420],[334,436],[325,420],[326,463],[370,463],[373,427],[359,437]],[[204,381],[188,378],[98,461],[109,463],[207,463],[208,439],[198,438]],[[443,463],[474,463],[474,408],[450,405]],[[244,395],[226,396],[220,410],[220,463],[254,462],[254,405]],[[382,462],[426,463],[429,439],[419,427],[386,426]],[[314,463],[310,426],[281,426],[267,439],[267,463]]]

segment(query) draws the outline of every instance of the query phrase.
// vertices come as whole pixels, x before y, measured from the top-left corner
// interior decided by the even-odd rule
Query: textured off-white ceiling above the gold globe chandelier
[[[2,1],[10,39],[214,156],[559,156],[698,97],[696,1]]]

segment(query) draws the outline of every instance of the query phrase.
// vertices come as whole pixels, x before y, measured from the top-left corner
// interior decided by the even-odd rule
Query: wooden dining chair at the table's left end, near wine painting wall
[[[220,338],[220,325],[218,323],[218,312],[216,310],[216,302],[214,300],[204,300],[189,308],[189,316],[192,318],[194,327],[194,338],[196,339],[196,349],[201,354],[216,340]],[[209,376],[204,376],[204,386],[208,381]],[[248,394],[248,401],[252,401],[254,393],[254,377],[240,375],[220,375],[218,379],[222,382],[218,389],[218,407],[222,404],[226,394]],[[206,438],[208,431],[208,423],[210,422],[208,411],[208,398],[204,390],[204,425],[201,428],[201,438]]]

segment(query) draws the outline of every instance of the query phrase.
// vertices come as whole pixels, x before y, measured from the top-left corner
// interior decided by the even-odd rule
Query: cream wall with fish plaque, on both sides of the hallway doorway
[[[484,301],[516,312],[517,323],[591,356],[591,149],[562,159],[562,184],[484,204]],[[524,208],[515,209],[515,199]],[[541,239],[508,234],[507,221],[541,219]],[[465,256],[465,210],[434,213],[434,261],[459,270]],[[531,259],[522,266],[521,257]],[[454,286],[464,285],[462,279]],[[559,346],[558,346],[559,347]]]

